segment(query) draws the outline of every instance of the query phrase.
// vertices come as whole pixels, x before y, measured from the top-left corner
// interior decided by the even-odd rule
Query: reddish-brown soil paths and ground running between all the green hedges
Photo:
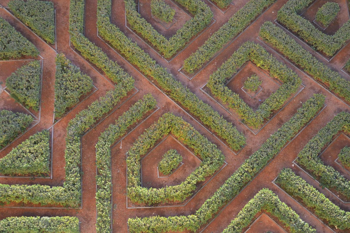
[[[7,6],[9,0],[0,0],[0,4]],[[28,178],[0,178],[1,183],[6,184],[48,184],[48,185],[62,185],[65,179],[64,174],[64,149],[65,149],[65,136],[66,127],[70,119],[72,119],[79,111],[86,108],[94,100],[98,99],[99,96],[103,96],[107,90],[113,88],[113,85],[107,80],[105,75],[100,74],[92,68],[92,66],[76,52],[74,52],[69,46],[69,1],[68,0],[53,0],[56,9],[57,18],[57,52],[64,53],[67,58],[69,58],[74,65],[80,67],[80,69],[88,74],[94,85],[98,88],[91,96],[86,100],[82,101],[75,109],[73,109],[69,114],[64,116],[54,128],[54,146],[53,146],[53,159],[52,159],[52,180],[51,179],[34,179],[30,180]],[[141,14],[146,14],[146,19],[154,25],[157,30],[168,37],[174,34],[174,32],[181,27],[184,19],[187,19],[186,14],[177,9],[175,19],[178,20],[169,30],[166,30],[163,26],[152,19],[149,15],[149,8],[147,4],[149,0],[140,0],[140,2],[145,2],[145,10],[141,10]],[[184,86],[187,86],[194,92],[201,100],[210,104],[216,111],[218,111],[225,119],[232,122],[233,125],[237,127],[240,132],[243,132],[246,140],[246,146],[241,150],[238,155],[232,153],[229,148],[219,141],[211,132],[209,132],[203,125],[199,124],[193,117],[191,117],[184,109],[175,104],[169,99],[165,94],[159,91],[152,82],[150,82],[146,77],[144,77],[140,72],[137,71],[132,65],[127,63],[124,58],[119,54],[114,52],[105,44],[100,38],[97,37],[97,27],[96,27],[96,8],[97,0],[86,0],[86,22],[85,22],[85,36],[94,42],[97,46],[102,48],[102,50],[110,57],[110,59],[117,61],[129,74],[131,74],[135,79],[135,88],[138,92],[134,90],[128,95],[131,97],[124,104],[114,108],[114,111],[110,116],[104,119],[100,124],[96,126],[93,130],[83,136],[82,143],[82,171],[83,171],[83,205],[81,209],[39,209],[39,208],[0,208],[0,219],[9,216],[77,216],[81,222],[81,232],[96,232],[96,163],[95,163],[95,145],[98,141],[98,137],[101,132],[103,132],[109,124],[115,122],[115,120],[126,111],[133,103],[140,99],[143,95],[147,93],[152,93],[157,101],[157,106],[160,108],[155,111],[151,117],[147,118],[144,122],[137,125],[137,128],[128,134],[122,142],[122,148],[120,148],[120,143],[112,148],[112,184],[113,184],[113,232],[127,232],[127,219],[133,217],[146,217],[146,216],[174,216],[174,215],[188,215],[194,213],[203,202],[209,198],[215,190],[217,190],[228,177],[232,175],[233,172],[241,165],[241,163],[248,158],[254,151],[258,150],[262,143],[273,134],[280,126],[288,121],[288,119],[296,112],[296,109],[301,106],[301,103],[309,99],[314,93],[322,93],[326,96],[325,104],[327,107],[286,147],[284,148],[275,158],[264,168],[262,171],[251,181],[246,188],[244,188],[240,194],[238,194],[233,201],[228,204],[223,211],[218,215],[218,217],[212,221],[212,223],[204,230],[204,232],[221,232],[235,216],[242,209],[242,207],[262,188],[269,188],[273,190],[287,205],[291,206],[294,211],[296,211],[301,219],[316,228],[317,232],[331,232],[328,227],[326,227],[320,220],[312,216],[304,207],[296,203],[290,196],[286,195],[281,191],[276,185],[272,183],[275,177],[279,174],[280,170],[285,167],[290,167],[300,175],[308,183],[313,185],[317,190],[322,192],[326,197],[328,197],[336,205],[340,206],[343,210],[350,210],[350,204],[344,204],[334,195],[332,195],[326,189],[322,189],[318,183],[312,179],[309,175],[302,172],[296,166],[292,166],[292,161],[297,157],[299,151],[303,146],[310,140],[317,132],[320,130],[330,119],[334,117],[338,112],[349,111],[349,105],[345,104],[343,101],[339,100],[334,94],[330,93],[324,87],[318,85],[313,79],[308,77],[304,72],[296,68],[294,65],[289,63],[283,56],[274,50],[270,49],[264,43],[260,42],[258,37],[258,32],[260,26],[265,21],[274,21],[276,19],[277,11],[281,8],[287,0],[277,0],[273,5],[268,8],[264,13],[258,17],[250,26],[233,42],[226,47],[224,51],[221,51],[219,55],[208,63],[203,70],[198,73],[192,80],[186,78],[183,74],[178,72],[178,70],[183,65],[183,60],[189,57],[198,46],[201,46],[205,40],[212,35],[219,27],[221,27],[229,18],[237,12],[238,9],[244,6],[247,2],[246,0],[235,0],[234,5],[230,5],[225,13],[219,10],[214,5],[210,4],[205,0],[208,6],[214,13],[214,19],[216,22],[212,26],[205,30],[198,38],[187,46],[181,53],[179,53],[173,60],[169,63],[163,59],[159,54],[151,49],[144,41],[137,37],[134,32],[128,30],[125,27],[125,8],[124,2],[121,0],[112,0],[112,23],[116,24],[117,27],[121,29],[128,37],[132,38],[133,41],[137,42],[138,45],[148,52],[152,58],[154,58],[158,64],[167,67],[168,71],[171,72],[175,78],[182,82]],[[322,5],[324,0],[316,0],[316,5]],[[338,0],[339,5],[341,5],[341,12],[337,16],[337,19],[332,22],[329,28],[326,29],[327,33],[333,33],[337,30],[343,22],[349,18],[348,12],[343,12],[343,6],[345,0]],[[316,9],[317,10],[317,9]],[[305,12],[304,17],[311,17],[313,19],[313,14],[315,14],[315,9],[310,8],[310,12]],[[43,85],[42,85],[42,102],[41,102],[41,114],[40,123],[31,128],[22,137],[15,140],[10,144],[5,150],[0,152],[0,158],[5,156],[12,148],[19,145],[22,141],[27,139],[34,133],[41,131],[43,129],[49,129],[52,126],[53,111],[54,111],[54,81],[55,81],[55,56],[56,52],[48,44],[37,38],[33,32],[28,30],[22,24],[20,24],[13,16],[9,15],[4,9],[0,8],[0,17],[3,17],[11,25],[13,25],[18,31],[20,31],[26,38],[28,38],[35,46],[40,50],[40,55],[43,57]],[[176,18],[178,17],[178,18]],[[348,18],[346,18],[348,17]],[[180,24],[181,22],[181,24]],[[153,24],[154,23],[154,24]],[[158,24],[158,26],[157,26]],[[179,24],[179,25],[177,25]],[[329,31],[327,31],[329,30]],[[167,36],[168,35],[168,36]],[[209,96],[202,92],[200,89],[208,82],[209,75],[214,72],[221,64],[228,59],[231,54],[238,49],[242,43],[246,41],[254,41],[273,54],[275,58],[286,64],[288,67],[292,68],[302,79],[305,88],[297,95],[290,103],[288,103],[285,108],[283,108],[276,116],[257,134],[253,134],[249,129],[246,128],[239,121],[239,117],[236,114],[230,114],[221,105],[212,100]],[[341,72],[341,68],[344,66],[346,60],[350,58],[350,44],[345,45],[331,61],[325,60],[322,55],[313,51],[308,45],[300,43],[303,48],[311,52],[317,59],[322,61],[324,64],[331,67],[334,71],[337,71],[342,77],[350,80],[350,76]],[[40,59],[39,57],[35,59]],[[5,79],[16,70],[16,68],[25,64],[26,61],[5,61],[0,62],[0,81],[4,82]],[[243,86],[242,83],[247,75],[251,75],[251,72],[257,73],[259,76],[260,72],[255,71],[254,68],[247,68],[241,72],[241,76],[238,75],[235,80],[236,83],[232,83],[232,88],[237,89],[239,92],[240,88]],[[265,80],[265,79],[264,79]],[[263,81],[264,83],[264,81]],[[267,82],[265,82],[267,83]],[[268,82],[269,83],[269,82]],[[2,87],[5,83],[1,84]],[[268,93],[275,90],[275,87],[271,84],[266,84],[263,87],[261,97],[255,97],[250,100],[251,106],[254,108],[258,107],[259,102],[254,102],[255,99],[260,98],[264,100],[268,97]],[[265,93],[265,94],[264,94]],[[134,94],[134,95],[132,95]],[[243,93],[245,94],[245,93]],[[247,102],[249,96],[242,98]],[[2,92],[0,94],[0,109],[25,111],[20,105],[15,104],[14,101],[6,96],[7,94]],[[246,95],[246,94],[245,94]],[[259,94],[258,94],[259,95]],[[183,119],[189,122],[198,130],[201,134],[207,137],[212,143],[216,144],[218,148],[225,155],[225,161],[228,163],[221,172],[219,172],[203,189],[201,189],[196,196],[186,205],[182,207],[160,207],[160,208],[149,208],[149,209],[127,209],[126,208],[126,152],[130,149],[134,141],[147,129],[151,124],[153,124],[160,116],[166,112],[173,112],[176,116],[182,116]],[[38,114],[38,113],[35,113]],[[349,174],[340,168],[334,160],[338,154],[338,150],[342,146],[348,145],[348,142],[342,142],[340,139],[334,143],[334,151],[324,152],[322,159],[326,164],[335,167],[336,170],[349,177]],[[197,166],[196,159],[190,159],[188,152],[183,151],[180,154],[184,156],[184,165],[180,167],[182,170],[177,170],[172,176],[160,181],[160,178],[156,177],[156,165],[158,164],[159,158],[169,149],[175,148],[180,150],[180,147],[176,143],[168,142],[164,145],[159,146],[159,152],[154,152],[154,155],[148,155],[149,160],[144,160],[145,165],[142,166],[142,176],[147,187],[161,187],[165,184],[175,184],[181,182],[186,174],[189,174],[195,166]],[[180,151],[179,151],[180,152]],[[147,158],[148,158],[147,156]],[[152,159],[151,159],[151,156]],[[330,157],[329,157],[330,156]],[[186,157],[186,159],[185,159]],[[194,158],[194,157],[193,157]],[[192,162],[190,162],[192,161]],[[199,161],[198,161],[199,162]],[[149,174],[149,175],[148,175]],[[149,185],[149,186],[148,186]],[[15,203],[11,203],[8,206],[16,206]],[[26,204],[25,206],[30,206]],[[259,216],[256,216],[259,217]],[[276,219],[274,219],[277,221]],[[277,221],[278,222],[278,221]],[[282,227],[283,225],[280,224]],[[258,221],[256,221],[248,230],[248,232],[266,232],[267,228],[270,227],[273,232],[283,232],[276,223],[273,223],[270,218],[264,214]],[[269,229],[270,229],[269,228]],[[246,228],[248,229],[248,228]],[[288,231],[288,229],[286,229]]]

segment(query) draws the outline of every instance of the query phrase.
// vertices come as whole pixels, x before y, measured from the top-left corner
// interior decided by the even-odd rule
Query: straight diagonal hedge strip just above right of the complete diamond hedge
[[[315,80],[322,81],[329,86],[331,91],[343,97],[346,101],[350,101],[350,81],[342,78],[338,72],[332,71],[327,65],[318,61],[292,37],[287,35],[283,29],[275,26],[272,22],[265,22],[260,28],[259,35]]]

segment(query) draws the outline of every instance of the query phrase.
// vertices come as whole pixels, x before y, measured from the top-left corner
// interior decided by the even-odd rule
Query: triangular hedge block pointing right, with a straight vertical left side
[[[80,96],[90,92],[91,78],[71,64],[63,53],[56,56],[55,118],[60,118],[66,109],[79,102]]]

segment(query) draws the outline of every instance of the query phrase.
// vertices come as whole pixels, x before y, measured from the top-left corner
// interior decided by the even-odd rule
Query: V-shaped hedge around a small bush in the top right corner
[[[334,35],[318,30],[307,19],[297,13],[308,7],[314,0],[289,0],[277,13],[277,20],[296,33],[313,48],[333,56],[350,39],[350,20],[343,24]]]

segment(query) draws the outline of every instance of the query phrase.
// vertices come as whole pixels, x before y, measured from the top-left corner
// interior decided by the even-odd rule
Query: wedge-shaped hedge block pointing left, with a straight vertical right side
[[[19,103],[39,110],[40,105],[40,62],[35,60],[24,65],[6,79],[6,89]]]

